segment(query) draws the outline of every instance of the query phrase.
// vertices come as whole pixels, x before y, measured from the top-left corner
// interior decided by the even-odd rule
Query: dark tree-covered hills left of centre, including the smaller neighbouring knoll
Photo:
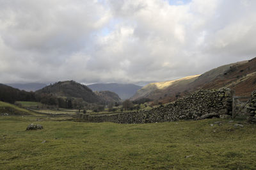
[[[111,91],[99,91],[94,93],[92,89],[75,81],[56,82],[35,92],[36,94],[51,94],[55,97],[83,98],[88,103],[120,102],[116,93]]]

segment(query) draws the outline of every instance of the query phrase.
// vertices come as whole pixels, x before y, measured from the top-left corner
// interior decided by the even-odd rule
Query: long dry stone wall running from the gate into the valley
[[[199,90],[168,105],[150,110],[111,115],[81,114],[83,121],[114,123],[154,123],[163,121],[200,120],[232,114],[232,91]]]

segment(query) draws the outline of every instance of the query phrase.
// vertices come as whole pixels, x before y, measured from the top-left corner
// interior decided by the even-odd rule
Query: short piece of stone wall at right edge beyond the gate
[[[247,112],[249,114],[248,122],[256,123],[256,91],[252,92],[251,102],[249,104],[249,107],[247,107]]]

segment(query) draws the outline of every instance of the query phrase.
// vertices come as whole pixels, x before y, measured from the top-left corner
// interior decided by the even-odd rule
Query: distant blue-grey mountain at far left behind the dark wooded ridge
[[[26,84],[12,83],[7,85],[13,88],[17,88],[25,91],[36,91],[38,89],[42,89],[45,86],[47,86],[46,84],[43,84],[43,83],[26,83]]]

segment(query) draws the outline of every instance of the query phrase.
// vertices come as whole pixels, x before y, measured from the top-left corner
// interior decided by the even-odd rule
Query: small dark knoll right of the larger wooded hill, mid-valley
[[[116,102],[121,102],[121,98],[112,91],[95,91],[95,94],[107,103],[115,104]]]

